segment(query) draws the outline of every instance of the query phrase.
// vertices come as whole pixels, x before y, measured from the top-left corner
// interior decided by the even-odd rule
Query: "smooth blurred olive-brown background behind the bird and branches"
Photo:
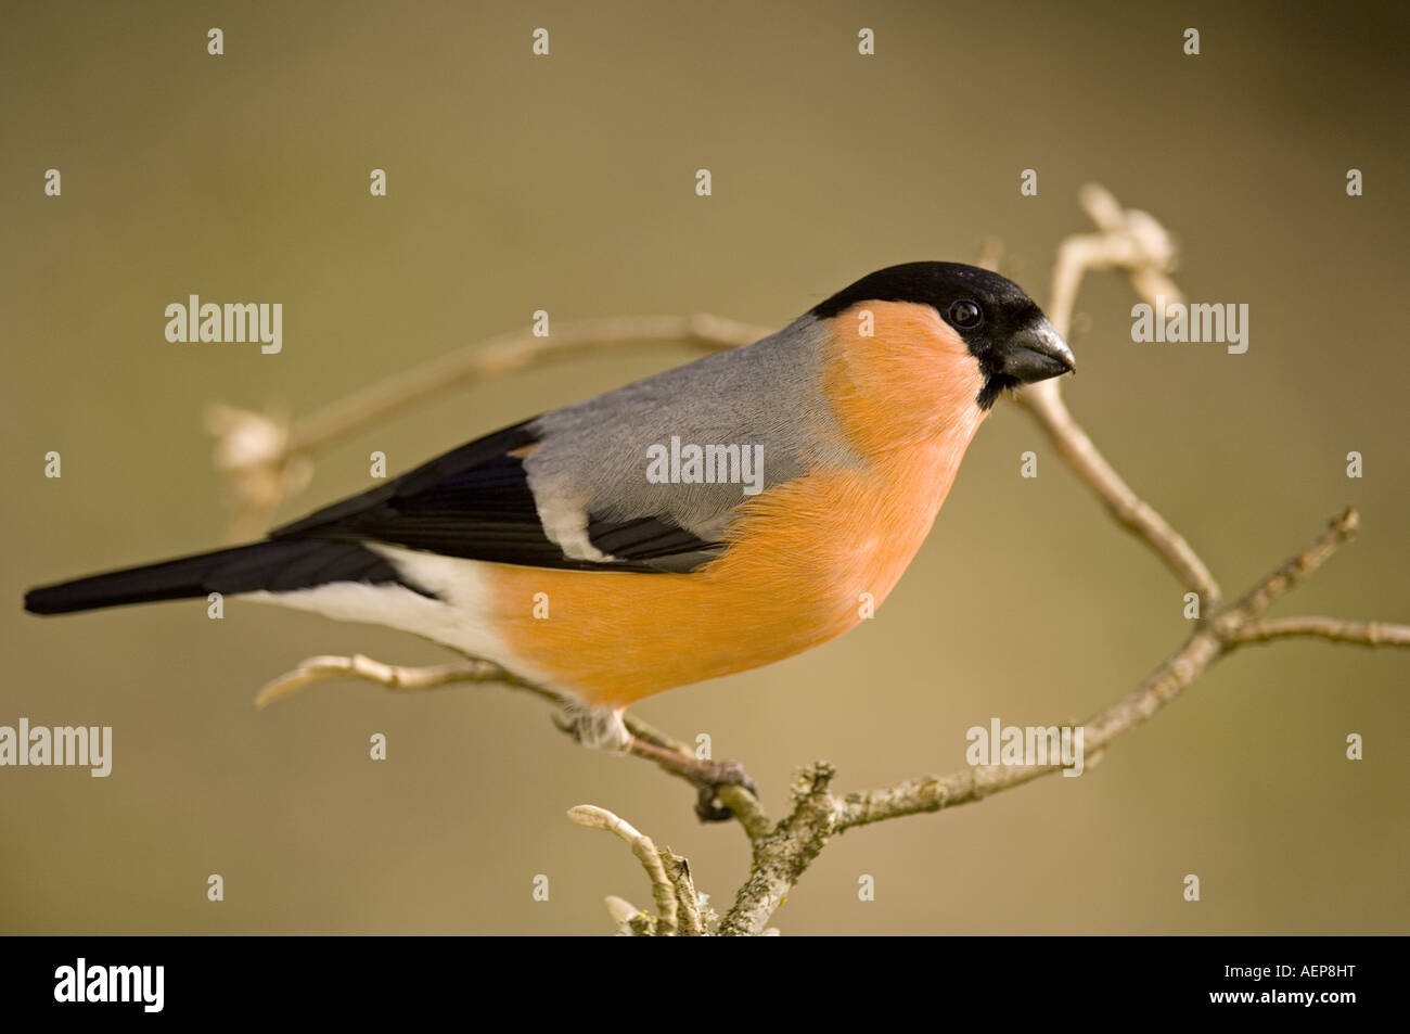
[[[1191,299],[1251,306],[1251,346],[1132,344],[1129,288],[1097,275],[1073,334],[1079,419],[1227,592],[1355,504],[1362,539],[1277,614],[1410,619],[1403,6],[0,17],[0,724],[114,726],[106,780],[0,770],[0,932],[602,934],[605,894],[650,894],[622,844],[567,821],[580,803],[687,855],[728,901],[747,872],[739,829],[701,827],[687,787],[574,746],[526,695],[338,683],[251,707],[306,656],[446,657],[429,643],[238,602],[221,622],[202,601],[41,621],[23,590],[219,543],[213,401],[310,413],[540,308],[556,324],[704,310],[781,326],[874,268],[973,261],[991,237],[1045,300],[1058,243],[1089,229],[1089,181],[1179,236]],[[548,58],[530,55],[539,25]],[[876,56],[857,55],[863,25]],[[1345,193],[1354,166],[1363,197]],[[372,168],[385,199],[368,196]],[[1036,197],[1019,196],[1024,168]],[[188,293],[282,302],[283,353],[168,344],[164,308]],[[405,470],[689,357],[582,360],[423,406],[323,456],[279,516],[367,487],[374,449]],[[1028,449],[1036,480],[1018,477]],[[62,480],[44,477],[48,450]],[[639,712],[709,732],[777,811],[814,758],[840,790],[867,789],[962,767],[964,731],[991,717],[1094,712],[1183,640],[1180,595],[1005,402],[877,621]],[[1407,676],[1403,652],[1251,647],[1081,779],[839,838],[774,923],[1407,932]],[[1366,738],[1359,763],[1348,732]],[[857,900],[863,873],[874,901]]]

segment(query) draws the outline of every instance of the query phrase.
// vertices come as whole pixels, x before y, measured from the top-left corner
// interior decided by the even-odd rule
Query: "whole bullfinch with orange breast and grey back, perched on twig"
[[[25,608],[221,592],[389,625],[561,693],[580,739],[622,749],[633,701],[857,625],[1000,394],[1072,370],[1011,281],[894,265],[754,344],[488,434],[264,542],[35,588]]]

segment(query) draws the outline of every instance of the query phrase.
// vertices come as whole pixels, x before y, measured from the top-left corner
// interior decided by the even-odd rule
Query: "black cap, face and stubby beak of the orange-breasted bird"
[[[929,305],[969,346],[984,374],[983,409],[1008,388],[1073,370],[1072,351],[1024,289],[1005,276],[959,262],[905,262],[863,276],[809,309],[830,319],[859,302]]]

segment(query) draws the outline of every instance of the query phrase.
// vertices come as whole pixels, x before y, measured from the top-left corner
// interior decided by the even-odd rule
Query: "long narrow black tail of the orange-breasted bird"
[[[396,583],[429,595],[400,577],[385,557],[355,542],[292,539],[257,542],[31,588],[24,594],[24,609],[30,614],[70,614],[121,604],[188,600],[210,592],[290,592],[330,581]]]

